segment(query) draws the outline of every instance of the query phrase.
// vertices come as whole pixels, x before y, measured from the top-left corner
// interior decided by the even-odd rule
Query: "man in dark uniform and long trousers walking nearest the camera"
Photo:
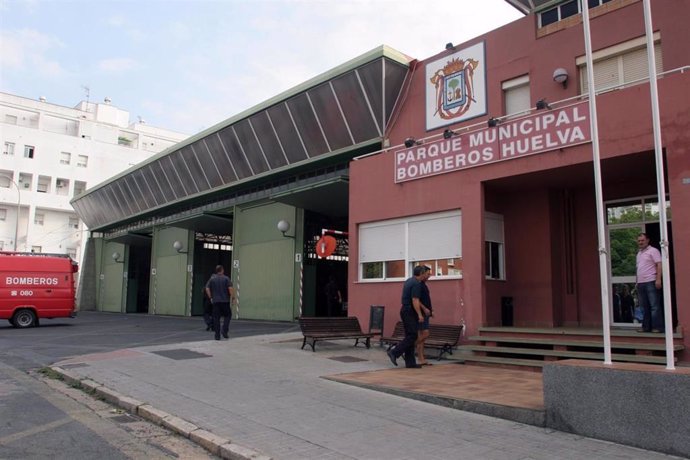
[[[424,322],[420,298],[422,296],[422,279],[426,276],[427,271],[429,271],[429,267],[424,265],[416,266],[412,272],[414,276],[408,278],[405,284],[403,284],[400,319],[405,329],[405,338],[387,352],[388,357],[395,366],[398,365],[397,359],[404,355],[405,367],[422,367],[417,364],[414,352],[418,325]]]

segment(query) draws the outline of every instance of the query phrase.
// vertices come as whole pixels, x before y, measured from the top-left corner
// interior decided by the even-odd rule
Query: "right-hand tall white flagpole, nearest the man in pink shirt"
[[[666,335],[666,369],[675,369],[673,363],[673,318],[671,317],[671,279],[669,276],[669,242],[666,220],[666,185],[664,184],[664,157],[661,147],[661,119],[659,116],[659,93],[656,81],[656,57],[654,52],[654,30],[652,9],[649,0],[644,0],[644,26],[647,36],[647,60],[649,61],[649,92],[652,98],[652,125],[654,127],[654,154],[656,157],[656,185],[659,194],[659,227],[661,244],[661,282],[664,289],[664,322]]]

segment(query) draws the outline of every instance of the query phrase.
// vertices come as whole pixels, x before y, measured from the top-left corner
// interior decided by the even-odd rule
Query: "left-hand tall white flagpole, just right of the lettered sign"
[[[601,160],[599,157],[599,129],[597,123],[596,89],[594,87],[594,65],[592,63],[592,40],[589,29],[589,5],[580,0],[582,25],[585,35],[585,58],[587,61],[587,89],[589,93],[589,120],[592,130],[592,156],[594,162],[594,191],[597,204],[597,235],[599,239],[599,279],[601,284],[601,318],[604,335],[604,364],[611,364],[611,320],[609,317],[609,276],[604,228],[604,201],[601,186]]]

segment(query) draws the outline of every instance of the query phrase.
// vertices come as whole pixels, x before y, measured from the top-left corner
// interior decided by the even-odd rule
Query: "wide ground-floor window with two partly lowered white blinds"
[[[360,280],[400,280],[415,265],[436,277],[462,276],[460,211],[362,224]]]

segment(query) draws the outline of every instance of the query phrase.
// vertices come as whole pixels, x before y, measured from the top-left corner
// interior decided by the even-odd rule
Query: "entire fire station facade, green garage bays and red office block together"
[[[402,282],[424,263],[434,321],[469,334],[601,330],[604,311],[616,328],[638,327],[634,240],[661,235],[643,3],[586,2],[600,165],[580,2],[509,3],[526,16],[424,60],[373,50],[75,198],[99,232],[95,308],[198,314],[200,286],[222,263],[240,318],[325,315],[322,285],[335,274],[348,314],[366,329],[370,306],[383,305],[392,331]],[[671,303],[685,348],[689,15],[687,2],[653,2]],[[325,235],[336,250],[318,257]]]

